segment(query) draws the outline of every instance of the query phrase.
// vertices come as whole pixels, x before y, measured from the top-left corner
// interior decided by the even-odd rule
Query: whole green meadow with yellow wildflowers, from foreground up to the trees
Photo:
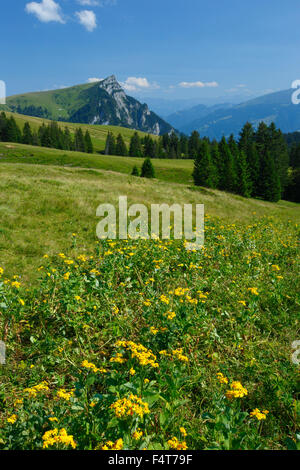
[[[137,160],[0,144],[0,449],[299,448],[299,205]],[[119,195],[204,203],[204,249],[97,240]]]

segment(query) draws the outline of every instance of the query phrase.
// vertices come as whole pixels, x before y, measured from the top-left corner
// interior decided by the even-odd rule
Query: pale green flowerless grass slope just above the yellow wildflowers
[[[111,169],[124,173],[130,169],[126,159],[113,157],[109,162]],[[171,179],[170,167],[164,170],[163,177],[169,175]],[[21,274],[28,281],[36,277],[45,253],[68,250],[73,232],[79,234],[83,247],[93,244],[97,206],[117,203],[119,195],[127,195],[129,203],[142,201],[147,205],[204,203],[206,212],[227,222],[250,221],[253,213],[299,220],[296,204],[246,200],[220,191],[195,190],[185,184],[143,180],[112,171],[2,162],[0,172],[0,266],[8,275]]]

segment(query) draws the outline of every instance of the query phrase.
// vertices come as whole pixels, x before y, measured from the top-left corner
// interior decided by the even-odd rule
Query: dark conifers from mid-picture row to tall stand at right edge
[[[255,130],[246,123],[239,138],[220,142],[175,133],[159,138],[140,137],[136,132],[129,148],[121,134],[107,136],[106,155],[143,158],[185,158],[194,160],[196,186],[216,188],[243,197],[277,202],[281,198],[299,202],[300,143],[288,146],[285,136],[272,123],[261,122]]]

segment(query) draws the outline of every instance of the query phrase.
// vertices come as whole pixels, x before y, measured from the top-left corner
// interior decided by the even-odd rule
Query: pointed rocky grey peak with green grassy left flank
[[[146,104],[127,96],[114,75],[96,83],[11,96],[6,109],[57,121],[128,127],[155,135],[172,131],[172,126]]]

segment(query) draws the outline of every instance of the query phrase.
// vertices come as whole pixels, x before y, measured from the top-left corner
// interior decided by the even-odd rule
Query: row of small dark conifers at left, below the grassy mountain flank
[[[5,113],[0,114],[0,141],[86,153],[94,151],[89,131],[84,134],[81,127],[76,129],[74,136],[67,127],[62,129],[55,121],[47,125],[43,123],[37,131],[31,129],[29,122],[25,122],[21,129],[14,117],[7,117]]]

